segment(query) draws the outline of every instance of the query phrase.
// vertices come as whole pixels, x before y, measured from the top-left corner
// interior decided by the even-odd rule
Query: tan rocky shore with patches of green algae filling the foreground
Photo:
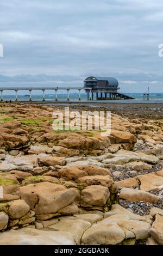
[[[163,245],[162,109],[112,108],[105,137],[53,111],[0,103],[0,245]]]

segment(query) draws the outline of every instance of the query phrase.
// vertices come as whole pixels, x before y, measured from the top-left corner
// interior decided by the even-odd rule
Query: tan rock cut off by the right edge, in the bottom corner
[[[163,216],[156,214],[155,221],[152,224],[152,228],[149,233],[153,236],[153,238],[159,243],[159,245],[163,245]]]

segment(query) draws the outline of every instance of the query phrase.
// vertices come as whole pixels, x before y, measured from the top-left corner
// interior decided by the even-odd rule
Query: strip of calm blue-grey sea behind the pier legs
[[[149,97],[149,101],[144,101],[143,100],[143,93],[126,93],[126,95],[129,95],[131,97],[134,97],[135,100],[114,100],[114,101],[96,101],[96,97],[94,101],[96,102],[126,102],[126,103],[163,103],[163,93],[151,93]],[[81,101],[87,101],[87,94],[86,93],[81,93]],[[46,94],[45,95],[46,101],[54,101],[55,100],[55,95],[54,94]],[[14,101],[15,100],[15,95],[3,95],[3,100],[4,101]],[[32,100],[33,101],[41,101],[42,100],[42,94],[32,95]],[[67,101],[67,94],[65,93],[60,93],[58,94],[58,101]],[[70,100],[71,101],[78,101],[78,93],[70,93]],[[24,95],[18,95],[18,101],[29,101],[29,95],[24,94]]]

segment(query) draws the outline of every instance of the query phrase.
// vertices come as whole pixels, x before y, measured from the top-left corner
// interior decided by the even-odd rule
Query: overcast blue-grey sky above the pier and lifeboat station
[[[162,29],[162,0],[1,1],[0,87],[82,87],[93,75],[163,93]]]

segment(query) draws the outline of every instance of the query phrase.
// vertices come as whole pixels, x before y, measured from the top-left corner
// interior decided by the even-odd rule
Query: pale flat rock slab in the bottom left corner
[[[76,245],[70,232],[32,228],[9,230],[0,234],[0,245]]]

